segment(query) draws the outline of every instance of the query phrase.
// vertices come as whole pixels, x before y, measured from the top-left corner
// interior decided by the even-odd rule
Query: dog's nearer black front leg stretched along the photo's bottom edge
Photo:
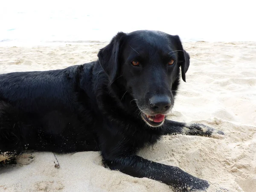
[[[177,191],[205,190],[209,183],[194,177],[178,167],[152,162],[142,157],[119,156],[114,159],[103,157],[103,162],[112,170],[119,170],[133,177],[147,177],[173,186]]]

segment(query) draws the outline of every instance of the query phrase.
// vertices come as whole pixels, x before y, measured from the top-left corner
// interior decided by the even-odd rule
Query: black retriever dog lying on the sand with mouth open
[[[206,180],[136,155],[166,134],[223,134],[166,119],[180,71],[186,81],[189,68],[179,36],[119,32],[98,57],[62,70],[0,75],[0,153],[101,151],[109,169],[178,191],[207,189]]]

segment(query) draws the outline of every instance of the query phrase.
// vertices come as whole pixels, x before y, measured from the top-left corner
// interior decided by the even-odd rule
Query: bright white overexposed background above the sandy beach
[[[93,40],[109,40],[118,31],[152,29],[183,38],[202,38],[208,41],[256,41],[255,2],[6,0],[1,3],[0,30],[5,32],[6,29],[19,28],[19,33],[14,35],[25,38],[26,35],[31,35],[26,33],[26,30],[32,30],[41,38],[47,34],[52,35],[51,33],[60,35],[59,37],[62,35],[63,38],[67,38],[67,35],[70,35],[70,38],[72,35],[82,38],[83,32],[84,36],[90,36]],[[18,12],[25,12],[27,17],[17,16]],[[93,18],[93,22],[87,20],[87,15]],[[55,19],[49,20],[50,17]],[[73,17],[78,20],[71,20]],[[98,31],[90,34],[90,29]],[[39,34],[40,31],[44,33]]]

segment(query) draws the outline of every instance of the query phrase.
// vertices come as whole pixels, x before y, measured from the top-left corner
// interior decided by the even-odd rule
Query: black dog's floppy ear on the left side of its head
[[[99,63],[108,74],[110,82],[114,81],[118,71],[119,50],[125,36],[126,34],[123,32],[117,33],[116,36],[112,38],[110,44],[100,49],[98,53]]]

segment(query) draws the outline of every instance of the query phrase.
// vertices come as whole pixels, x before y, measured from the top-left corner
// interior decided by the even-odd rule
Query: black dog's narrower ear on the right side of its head
[[[178,35],[171,35],[175,39],[175,45],[178,51],[179,63],[181,66],[181,77],[186,82],[186,72],[189,69],[189,54],[183,49],[180,38]]]

